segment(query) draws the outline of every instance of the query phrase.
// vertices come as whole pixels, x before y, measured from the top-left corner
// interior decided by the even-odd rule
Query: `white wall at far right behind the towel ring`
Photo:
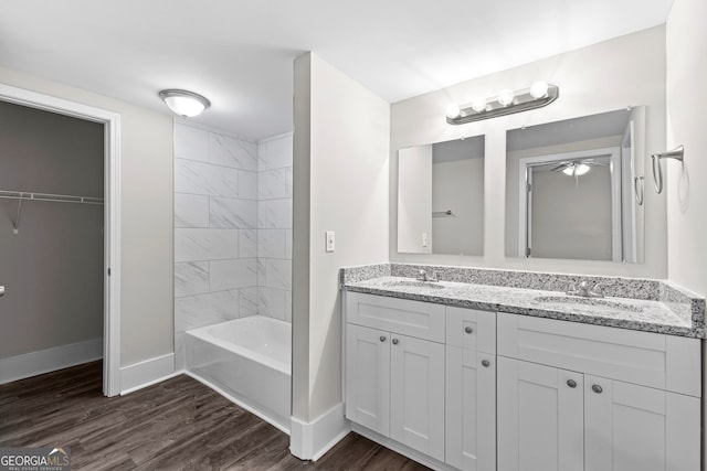
[[[685,146],[685,172],[664,162],[668,179],[668,277],[707,295],[707,2],[675,0],[667,21],[667,144]],[[646,175],[646,188],[653,179]],[[651,193],[655,193],[650,190]]]

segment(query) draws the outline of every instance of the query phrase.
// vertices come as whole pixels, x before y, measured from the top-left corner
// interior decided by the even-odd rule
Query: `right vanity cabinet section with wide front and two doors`
[[[696,339],[499,313],[498,470],[699,470]]]

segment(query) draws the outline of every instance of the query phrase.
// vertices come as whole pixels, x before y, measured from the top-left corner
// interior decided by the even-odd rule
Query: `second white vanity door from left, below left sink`
[[[391,338],[390,437],[444,461],[444,345]]]

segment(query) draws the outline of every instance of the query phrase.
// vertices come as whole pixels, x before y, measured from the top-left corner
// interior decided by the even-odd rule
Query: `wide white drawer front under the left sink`
[[[346,321],[444,343],[444,306],[346,292]]]

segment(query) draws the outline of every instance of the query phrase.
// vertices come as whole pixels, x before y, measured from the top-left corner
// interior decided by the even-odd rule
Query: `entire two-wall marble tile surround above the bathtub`
[[[175,125],[175,343],[245,315],[292,318],[292,135]],[[181,365],[178,365],[180,367]]]

